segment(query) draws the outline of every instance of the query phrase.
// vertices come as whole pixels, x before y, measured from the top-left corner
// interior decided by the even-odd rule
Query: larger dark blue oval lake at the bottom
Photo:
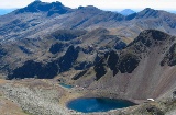
[[[106,97],[76,99],[68,102],[67,107],[82,113],[107,112],[116,108],[123,108],[136,105],[125,100],[114,100]]]

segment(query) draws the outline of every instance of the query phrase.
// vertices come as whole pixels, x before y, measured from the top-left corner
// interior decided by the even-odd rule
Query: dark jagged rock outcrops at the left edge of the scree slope
[[[119,57],[119,55],[111,50],[105,55],[99,62],[95,66],[96,71],[96,80],[99,80],[107,73],[107,67],[113,71],[113,76],[116,76],[119,71],[121,73],[131,73],[140,62],[140,58],[135,55],[127,54],[124,56]]]

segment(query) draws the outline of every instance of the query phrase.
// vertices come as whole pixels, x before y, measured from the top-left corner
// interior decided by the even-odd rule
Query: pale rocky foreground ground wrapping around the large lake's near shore
[[[81,114],[66,107],[73,99],[91,96],[80,87],[66,89],[54,80],[12,80],[0,82],[1,115],[73,115]],[[95,96],[96,92],[92,93]],[[103,96],[103,95],[102,95]],[[155,102],[135,101],[139,105],[91,115],[175,115],[176,100],[158,99]]]

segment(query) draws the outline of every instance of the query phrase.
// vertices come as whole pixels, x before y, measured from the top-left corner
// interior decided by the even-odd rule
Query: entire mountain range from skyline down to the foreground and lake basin
[[[53,79],[74,71],[68,81],[75,84],[158,97],[175,85],[175,31],[176,15],[166,11],[146,8],[124,16],[34,1],[0,16],[0,73]]]

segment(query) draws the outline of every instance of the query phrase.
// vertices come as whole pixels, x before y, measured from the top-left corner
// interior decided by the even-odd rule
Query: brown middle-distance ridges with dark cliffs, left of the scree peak
[[[7,74],[7,79],[54,78],[70,69],[88,69],[109,49],[124,47],[125,43],[106,28],[57,30],[37,39],[24,38],[1,45],[0,73]]]

